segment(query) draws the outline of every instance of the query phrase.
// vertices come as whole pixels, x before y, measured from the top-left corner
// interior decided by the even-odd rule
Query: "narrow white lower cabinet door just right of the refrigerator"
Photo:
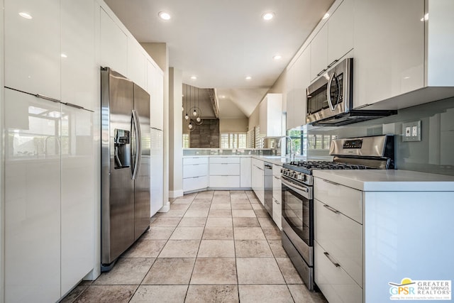
[[[150,216],[162,208],[164,187],[164,135],[154,128],[150,130]]]

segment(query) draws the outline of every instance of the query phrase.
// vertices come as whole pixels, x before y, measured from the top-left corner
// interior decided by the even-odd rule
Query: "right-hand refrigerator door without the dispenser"
[[[134,238],[137,239],[150,226],[150,95],[134,84],[134,110],[140,126],[140,158],[137,177],[135,177],[135,226]]]

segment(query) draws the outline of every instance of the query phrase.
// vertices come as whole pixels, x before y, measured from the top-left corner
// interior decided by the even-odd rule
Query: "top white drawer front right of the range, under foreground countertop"
[[[362,192],[321,178],[314,178],[314,198],[362,224]]]

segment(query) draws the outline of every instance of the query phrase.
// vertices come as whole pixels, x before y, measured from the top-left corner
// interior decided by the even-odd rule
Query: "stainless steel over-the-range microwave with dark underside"
[[[306,89],[306,106],[306,123],[315,126],[341,126],[397,114],[353,109],[353,58],[338,62]]]

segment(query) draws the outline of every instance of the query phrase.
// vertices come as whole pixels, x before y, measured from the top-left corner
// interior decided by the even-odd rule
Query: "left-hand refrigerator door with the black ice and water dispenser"
[[[101,70],[101,263],[108,265],[134,242],[132,163],[133,82]],[[119,160],[119,161],[118,161]]]

